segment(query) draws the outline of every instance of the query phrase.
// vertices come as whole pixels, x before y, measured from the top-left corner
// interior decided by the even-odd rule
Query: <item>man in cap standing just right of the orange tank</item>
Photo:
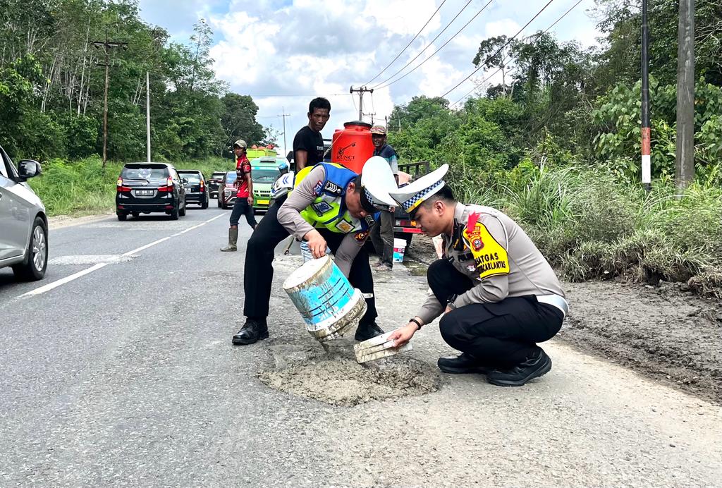
[[[373,126],[371,128],[371,141],[373,142],[373,155],[383,157],[391,173],[399,184],[399,157],[391,145],[386,144],[386,127]],[[391,271],[393,268],[393,209],[390,212],[381,212],[379,225],[371,230],[371,242],[380,256],[375,266],[376,271]]]

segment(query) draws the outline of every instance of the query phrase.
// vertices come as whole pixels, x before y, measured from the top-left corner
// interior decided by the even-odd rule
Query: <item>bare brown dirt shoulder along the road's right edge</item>
[[[414,241],[410,258],[436,258],[430,239],[416,235]],[[722,302],[699,297],[682,283],[562,285],[570,315],[561,339],[722,404]]]

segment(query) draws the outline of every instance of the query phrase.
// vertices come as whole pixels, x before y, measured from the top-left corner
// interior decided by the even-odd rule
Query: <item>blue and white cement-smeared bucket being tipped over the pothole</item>
[[[342,336],[366,313],[366,300],[329,256],[306,261],[283,282],[283,289],[318,341]]]

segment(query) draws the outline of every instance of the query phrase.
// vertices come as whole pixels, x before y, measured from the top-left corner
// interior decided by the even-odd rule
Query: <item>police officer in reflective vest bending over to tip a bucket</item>
[[[365,341],[383,334],[376,325],[373,276],[368,253],[362,249],[373,215],[395,203],[388,192],[395,190],[391,168],[382,157],[372,157],[357,175],[333,163],[303,168],[289,196],[277,200],[253,231],[245,252],[243,290],[245,325],[233,336],[233,344],[253,344],[269,336],[269,314],[273,282],[274,248],[289,234],[308,242],[315,258],[326,254],[326,245],[336,256],[335,263],[360,289],[367,310],[356,330],[355,339]]]

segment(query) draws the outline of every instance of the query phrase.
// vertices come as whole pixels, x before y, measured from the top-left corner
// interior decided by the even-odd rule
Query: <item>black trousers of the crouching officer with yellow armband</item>
[[[445,259],[434,261],[427,273],[429,286],[443,308],[475,286]],[[507,297],[500,302],[471,303],[441,318],[441,336],[479,365],[511,367],[539,350],[537,342],[552,339],[560,328],[561,310],[539,303],[534,295]]]

